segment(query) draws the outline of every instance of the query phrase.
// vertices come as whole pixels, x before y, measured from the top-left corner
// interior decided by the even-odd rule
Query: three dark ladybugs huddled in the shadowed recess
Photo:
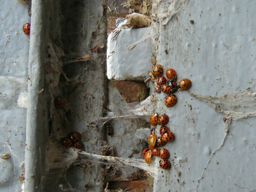
[[[79,132],[71,132],[68,134],[67,137],[62,139],[62,145],[65,147],[74,147],[81,149],[82,148],[82,142],[81,142],[82,135]]]

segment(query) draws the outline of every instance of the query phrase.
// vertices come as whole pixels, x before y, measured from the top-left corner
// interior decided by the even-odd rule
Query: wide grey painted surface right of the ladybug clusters
[[[173,167],[154,191],[256,190],[255,16],[252,1],[153,1],[157,61],[191,79],[195,94],[178,92],[173,108],[156,95],[175,141],[167,144]]]

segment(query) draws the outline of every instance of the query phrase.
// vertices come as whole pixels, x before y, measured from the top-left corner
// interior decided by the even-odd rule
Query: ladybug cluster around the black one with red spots
[[[155,92],[161,93],[164,92],[168,94],[168,96],[165,98],[165,105],[166,107],[173,107],[177,103],[177,97],[175,92],[180,90],[187,90],[191,87],[192,83],[189,79],[182,79],[179,81],[179,83],[176,83],[177,81],[177,73],[174,69],[167,69],[166,70],[166,77],[167,79],[162,76],[163,74],[163,66],[162,65],[155,65],[152,69],[152,75],[157,79],[157,85],[154,87]]]

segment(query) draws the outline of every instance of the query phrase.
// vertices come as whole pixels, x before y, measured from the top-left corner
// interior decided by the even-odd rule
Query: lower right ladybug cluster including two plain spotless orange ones
[[[163,169],[168,169],[171,167],[170,161],[167,159],[170,157],[170,153],[166,148],[161,148],[160,150],[158,147],[164,146],[168,141],[174,139],[173,132],[169,131],[169,128],[165,125],[169,122],[169,117],[164,114],[158,117],[157,113],[153,113],[149,117],[149,123],[153,126],[157,124],[161,125],[160,128],[160,137],[156,137],[155,128],[151,129],[150,135],[148,138],[149,148],[146,148],[142,151],[142,157],[145,159],[146,163],[149,164],[151,156],[159,156],[161,160],[159,161],[159,166]]]

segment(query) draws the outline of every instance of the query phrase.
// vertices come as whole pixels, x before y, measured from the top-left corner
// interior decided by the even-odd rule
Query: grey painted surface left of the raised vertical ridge
[[[29,6],[18,1],[1,1],[0,7],[0,191],[21,191],[30,44],[22,26],[30,22]],[[1,158],[5,153],[10,154],[8,159]]]

